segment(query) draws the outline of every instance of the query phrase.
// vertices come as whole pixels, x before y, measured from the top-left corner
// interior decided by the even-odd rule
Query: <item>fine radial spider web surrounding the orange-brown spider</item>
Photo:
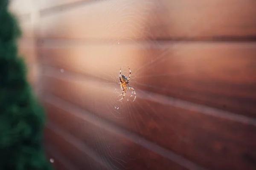
[[[113,11],[115,11],[115,17],[120,18],[121,21],[123,21],[125,18],[127,18],[126,21],[123,22],[134,22],[134,18],[137,18],[137,15],[134,15],[131,12],[127,12],[126,14],[123,14],[123,10],[127,10],[129,11],[129,4],[130,3],[135,3],[136,5],[134,6],[145,6],[145,10],[143,11],[144,13],[150,13],[151,12],[151,7],[152,4],[156,5],[156,1],[150,1],[148,3],[141,3],[140,1],[127,1],[127,8],[125,6],[123,6],[122,8],[113,8]],[[116,3],[115,1],[108,1],[108,2],[104,2],[104,3]],[[131,10],[133,11],[133,10]],[[137,12],[137,14],[140,12]],[[142,14],[142,16],[145,16],[145,14]],[[216,16],[218,17],[218,16]],[[132,19],[132,20],[131,20]],[[119,32],[120,28],[115,28],[115,24],[112,23],[109,20],[105,20],[105,22],[109,23],[109,26],[106,28],[110,33],[113,33],[113,35],[115,35],[115,32]],[[151,23],[151,21],[148,21],[149,25],[154,26],[154,23]],[[152,21],[153,22],[153,21]],[[200,24],[200,20],[198,20],[198,23],[194,23],[196,24]],[[212,23],[214,24],[214,23]],[[131,26],[132,27],[132,26]],[[209,30],[210,29],[210,25],[204,24],[204,28],[201,28],[202,30]],[[126,32],[126,31],[131,31],[134,30],[134,28],[129,28],[125,27],[122,29],[122,31]],[[160,30],[161,31],[161,30]],[[193,30],[188,30],[187,33],[189,33],[191,35],[191,37],[195,37],[198,33],[193,34],[191,33]],[[139,39],[141,37],[138,37]],[[119,58],[121,58],[120,60],[116,61],[116,62],[112,62],[112,63],[108,63],[108,65],[106,65],[105,67],[107,68],[113,68],[112,70],[113,73],[112,74],[105,74],[105,72],[101,72],[101,74],[105,75],[104,77],[99,77],[99,74],[93,74],[90,73],[92,76],[96,77],[97,79],[99,79],[100,84],[102,84],[102,87],[108,88],[109,91],[111,91],[111,95],[104,97],[104,101],[105,102],[101,102],[101,101],[97,101],[94,100],[94,105],[95,105],[95,110],[93,111],[93,119],[95,120],[95,122],[98,121],[99,117],[102,117],[100,115],[97,115],[95,113],[98,112],[98,108],[102,107],[102,105],[105,105],[106,108],[108,108],[108,110],[106,110],[106,112],[111,113],[111,115],[113,116],[113,119],[117,119],[117,121],[121,121],[123,119],[127,119],[128,121],[131,121],[131,123],[135,124],[135,130],[137,132],[142,132],[142,130],[140,129],[140,123],[143,122],[143,116],[140,116],[141,114],[145,114],[147,115],[146,111],[148,110],[148,108],[151,109],[151,111],[154,112],[154,115],[158,115],[161,116],[160,113],[157,112],[156,108],[154,108],[154,106],[151,106],[151,104],[147,101],[147,100],[141,100],[143,98],[148,98],[148,99],[152,99],[154,100],[154,93],[145,91],[143,89],[137,88],[138,85],[140,85],[140,87],[150,87],[150,88],[154,88],[154,89],[161,89],[161,87],[156,87],[153,86],[151,84],[146,84],[143,83],[141,81],[139,81],[140,79],[144,79],[144,78],[150,78],[150,77],[159,77],[160,79],[165,78],[168,79],[171,76],[171,73],[166,73],[166,74],[157,74],[157,70],[154,70],[156,68],[161,67],[161,65],[163,65],[167,60],[168,57],[178,57],[179,56],[179,51],[177,50],[176,52],[173,52],[175,48],[179,47],[179,45],[182,45],[183,43],[186,42],[166,42],[166,44],[169,44],[168,48],[163,48],[162,47],[162,42],[160,41],[154,41],[152,40],[152,38],[154,39],[154,37],[151,37],[149,39],[147,38],[141,38],[140,41],[136,41],[136,40],[131,40],[129,37],[119,37],[119,39],[113,40],[111,42],[111,45],[109,45],[109,48],[107,50],[104,51],[105,54],[108,54],[109,51],[111,51],[111,48],[113,48],[113,46],[120,46],[120,48],[123,45],[127,45],[127,44],[132,44],[134,45],[134,47],[136,48],[140,48],[140,56],[142,56],[143,58],[145,58],[145,56],[148,54],[148,50],[152,49],[152,48],[159,48],[160,52],[151,58],[148,58],[147,60],[143,60],[140,61],[140,59],[128,56],[129,54],[121,54]],[[122,40],[121,40],[122,39]],[[125,41],[124,41],[125,40]],[[108,42],[108,40],[102,40],[101,42]],[[172,44],[172,45],[170,45]],[[134,48],[131,48],[131,50],[134,50]],[[166,56],[165,54],[172,52],[172,55],[168,55]],[[132,54],[132,52],[131,52]],[[105,56],[102,56],[102,58]],[[101,61],[102,58],[99,58],[98,60]],[[122,98],[122,96],[119,96],[122,93],[122,90],[120,88],[120,84],[119,84],[119,69],[120,66],[122,67],[122,74],[125,75],[126,77],[129,76],[129,70],[128,70],[128,66],[131,68],[131,79],[130,79],[130,85],[129,87],[133,87],[136,91],[137,94],[137,98],[135,99],[134,102],[134,95],[130,98],[129,96],[131,96],[131,90],[127,90],[127,94],[125,96],[124,99],[122,99],[122,101],[119,101],[119,99]],[[97,65],[93,65],[92,67],[98,68],[99,66]],[[100,69],[99,69],[100,71]],[[144,74],[145,72],[150,71],[149,74]],[[155,72],[155,74],[152,74],[152,71]],[[62,73],[64,72],[64,69],[61,69]],[[178,75],[176,75],[178,76]],[[165,89],[166,91],[169,91],[168,89]],[[99,89],[100,91],[100,89]],[[141,103],[138,103],[138,102]],[[134,105],[137,105],[140,107],[140,111],[134,107]],[[143,113],[144,112],[144,113]],[[99,116],[99,117],[98,117]],[[150,115],[148,115],[150,116]],[[140,119],[140,121],[139,121]],[[154,118],[152,118],[152,121],[154,122]],[[157,124],[156,122],[154,122],[155,124]],[[146,125],[146,124],[145,124]],[[120,126],[120,125],[117,125]],[[122,127],[124,128],[124,127]],[[92,131],[95,131],[92,129],[90,129]],[[132,131],[132,130],[128,130],[127,131]],[[156,130],[158,130],[156,128]],[[169,129],[170,130],[170,129]],[[173,133],[177,133],[177,129],[172,129]],[[158,130],[157,132],[155,131],[155,133],[160,133],[164,135],[164,132],[161,130]],[[99,148],[101,148],[100,151],[98,151],[100,153],[101,156],[103,156],[102,161],[104,162],[104,164],[109,168],[109,169],[132,169],[133,167],[136,167],[136,165],[132,165],[128,164],[128,162],[133,161],[135,159],[137,159],[137,157],[131,156],[129,150],[126,150],[125,153],[122,153],[122,155],[117,154],[117,153],[121,153],[123,152],[123,150],[115,150],[113,151],[113,149],[111,150],[111,140],[106,138],[105,135],[105,131],[102,128],[102,131],[95,131],[96,134],[96,139],[97,141],[100,141],[99,143],[96,143],[96,145],[98,145]],[[139,135],[140,136],[140,135]],[[189,138],[188,136],[180,136],[180,142],[189,142]],[[141,136],[142,137],[142,136]],[[143,137],[142,137],[143,138]],[[104,150],[102,150],[102,147],[105,148]],[[124,146],[125,147],[125,146]],[[140,153],[138,153],[140,154]],[[99,169],[101,169],[99,167]]]

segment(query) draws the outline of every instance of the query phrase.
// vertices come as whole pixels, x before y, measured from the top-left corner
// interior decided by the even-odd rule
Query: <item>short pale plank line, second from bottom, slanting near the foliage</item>
[[[52,100],[50,100],[50,101],[51,101],[51,103],[53,103]],[[67,109],[67,111],[69,111],[69,110],[70,110],[70,108]],[[49,120],[47,120],[46,127],[48,127],[50,130],[52,130],[57,135],[61,136],[62,139],[66,140],[67,142],[69,142],[70,144],[72,144],[73,146],[75,146],[76,148],[81,150],[83,153],[85,153],[87,156],[89,156],[94,161],[98,162],[99,164],[101,164],[104,167],[107,167],[107,164],[105,163],[104,159],[101,156],[97,155],[90,147],[88,147],[86,144],[81,142],[79,139],[76,139],[75,136],[71,135],[70,133],[65,132],[64,130],[62,130],[57,125],[54,125]],[[118,168],[116,168],[110,164],[108,164],[108,166],[110,166],[112,170],[118,170]]]

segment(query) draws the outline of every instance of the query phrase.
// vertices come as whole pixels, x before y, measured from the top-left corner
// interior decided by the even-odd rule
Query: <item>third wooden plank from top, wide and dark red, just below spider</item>
[[[233,115],[224,118],[219,116],[222,112],[207,111],[198,105],[180,107],[176,101],[169,102],[143,91],[138,92],[135,102],[120,103],[111,85],[75,78],[73,74],[65,77],[44,77],[45,90],[203,167],[256,168],[253,161],[256,159],[253,149],[256,148],[256,121],[253,119],[239,122],[240,118],[235,121]]]

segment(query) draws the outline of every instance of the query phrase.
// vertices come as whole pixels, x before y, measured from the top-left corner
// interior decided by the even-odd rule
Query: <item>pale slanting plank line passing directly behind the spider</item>
[[[98,83],[99,83],[99,81],[100,82],[106,81],[105,79],[101,79],[101,77],[94,77],[93,75],[84,75],[84,74],[79,74],[79,73],[73,73],[71,71],[64,71],[64,73],[61,73],[59,71],[59,69],[52,67],[52,66],[48,66],[48,65],[44,66],[44,70],[45,70],[45,74],[47,74],[47,76],[53,77],[53,78],[82,80],[85,82],[89,80],[89,81],[98,82]],[[47,71],[49,71],[49,72],[47,73]],[[140,91],[143,91],[143,90],[140,89]],[[222,111],[217,108],[212,108],[209,106],[196,104],[196,103],[189,102],[186,100],[177,99],[177,98],[170,97],[170,96],[165,96],[165,95],[153,93],[150,91],[143,91],[143,93],[141,93],[141,94],[142,94],[141,96],[137,96],[137,97],[148,99],[148,100],[158,102],[158,103],[172,105],[174,107],[183,108],[183,109],[190,110],[190,111],[201,111],[200,113],[203,113],[203,114],[206,114],[209,116],[214,116],[217,118],[224,118],[224,119],[227,119],[230,121],[256,126],[256,119],[251,118],[251,117],[239,115],[239,114],[228,112],[228,111]]]

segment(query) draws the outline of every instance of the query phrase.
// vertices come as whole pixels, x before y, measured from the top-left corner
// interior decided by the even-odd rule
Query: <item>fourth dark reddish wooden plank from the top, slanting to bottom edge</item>
[[[104,125],[95,125],[98,121],[96,117],[95,122],[84,121],[77,113],[65,111],[49,102],[45,104],[48,119],[96,150],[106,160],[109,169],[187,170],[123,136],[108,131]]]

